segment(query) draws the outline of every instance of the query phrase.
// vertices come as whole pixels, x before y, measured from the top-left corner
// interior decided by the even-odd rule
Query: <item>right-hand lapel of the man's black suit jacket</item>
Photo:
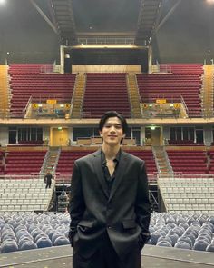
[[[127,159],[125,153],[121,152],[120,161],[119,161],[119,165],[117,168],[115,180],[112,184],[112,190],[110,193],[109,201],[112,199],[112,196],[113,196],[113,194],[115,194],[118,186],[122,183],[122,177],[123,177],[124,173],[126,172],[126,167],[128,164],[127,161],[128,161],[128,159]]]

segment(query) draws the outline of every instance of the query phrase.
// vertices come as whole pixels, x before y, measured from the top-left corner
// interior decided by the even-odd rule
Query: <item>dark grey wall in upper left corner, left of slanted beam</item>
[[[0,36],[0,64],[59,60],[57,35],[28,0],[0,6]]]

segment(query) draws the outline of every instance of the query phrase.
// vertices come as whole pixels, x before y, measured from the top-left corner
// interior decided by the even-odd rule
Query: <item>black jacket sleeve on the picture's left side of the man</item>
[[[76,162],[73,165],[73,175],[71,182],[71,201],[70,201],[70,231],[69,240],[73,246],[73,236],[77,230],[77,224],[81,221],[83,212],[85,210],[85,204],[82,192],[82,178],[78,164]]]

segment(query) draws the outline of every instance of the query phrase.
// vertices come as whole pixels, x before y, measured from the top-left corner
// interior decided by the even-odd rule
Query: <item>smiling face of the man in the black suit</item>
[[[122,138],[125,137],[122,131],[122,122],[118,117],[110,117],[105,121],[105,124],[100,131],[103,143],[109,145],[121,144]]]

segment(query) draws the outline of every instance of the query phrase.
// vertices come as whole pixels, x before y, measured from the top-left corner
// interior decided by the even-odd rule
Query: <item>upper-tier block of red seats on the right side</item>
[[[190,117],[201,116],[202,65],[170,65],[171,74],[137,74],[139,92],[143,103],[155,103],[156,99],[180,102],[180,96]]]

